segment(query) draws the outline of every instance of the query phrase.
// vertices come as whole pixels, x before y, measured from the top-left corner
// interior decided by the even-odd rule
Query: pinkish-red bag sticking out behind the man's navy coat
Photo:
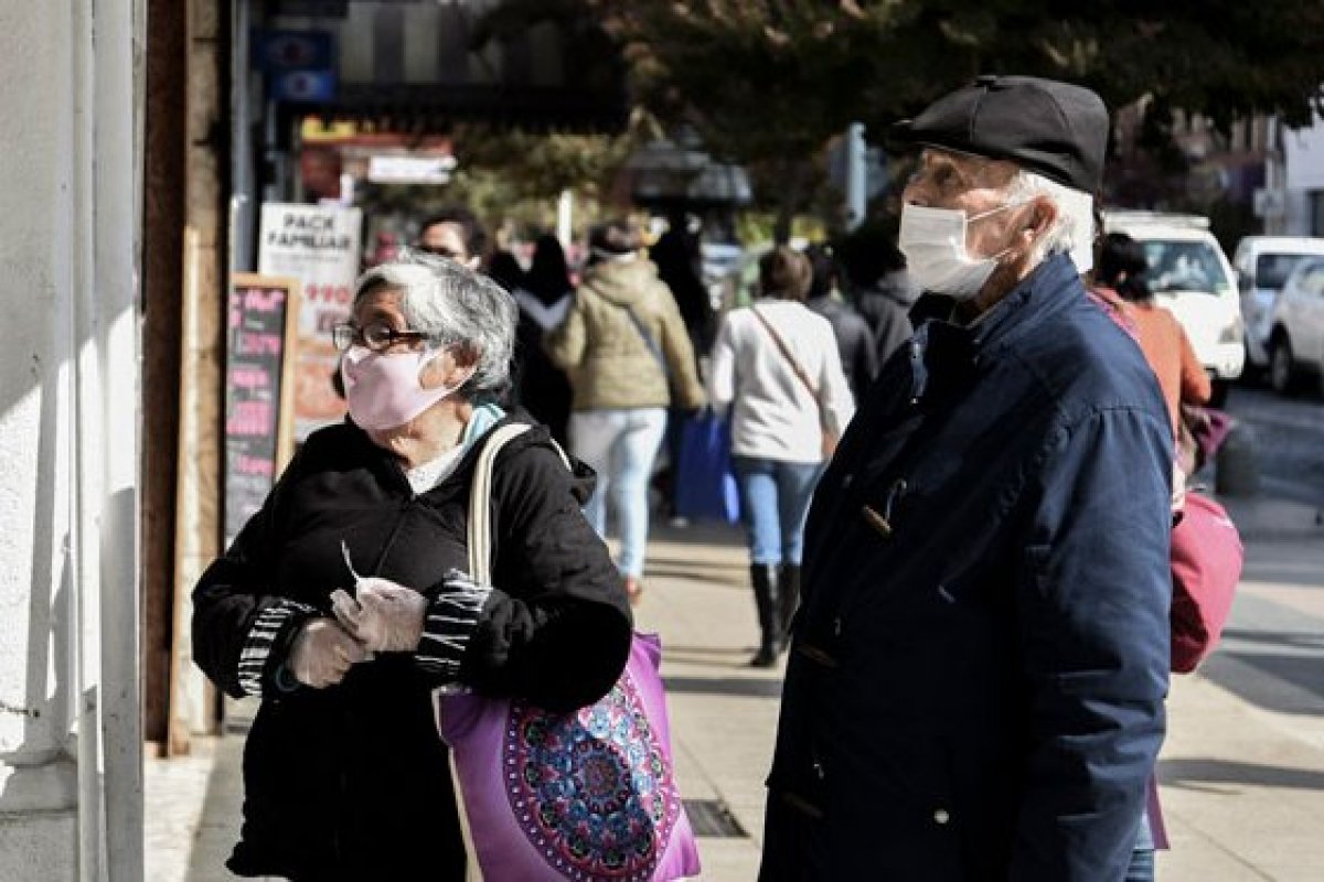
[[[1172,669],[1190,673],[1218,645],[1241,579],[1242,550],[1227,510],[1201,493],[1186,493],[1186,510],[1172,530]]]

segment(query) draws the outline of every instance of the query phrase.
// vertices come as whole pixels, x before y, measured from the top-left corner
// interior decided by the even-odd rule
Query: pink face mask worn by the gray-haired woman
[[[421,352],[379,353],[365,346],[350,346],[340,361],[344,395],[350,417],[360,428],[385,431],[404,426],[463,385],[424,389],[418,381],[422,369],[437,349]]]

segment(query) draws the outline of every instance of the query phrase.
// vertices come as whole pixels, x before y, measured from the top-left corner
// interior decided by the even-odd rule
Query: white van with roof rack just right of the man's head
[[[1104,212],[1104,230],[1125,233],[1144,246],[1149,288],[1177,316],[1214,383],[1214,403],[1241,377],[1246,362],[1241,301],[1233,268],[1209,218],[1158,212]]]

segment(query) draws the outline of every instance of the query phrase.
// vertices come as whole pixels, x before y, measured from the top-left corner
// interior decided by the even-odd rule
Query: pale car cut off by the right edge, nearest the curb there
[[[1324,387],[1324,257],[1296,264],[1270,315],[1270,385],[1290,394],[1307,381]]]

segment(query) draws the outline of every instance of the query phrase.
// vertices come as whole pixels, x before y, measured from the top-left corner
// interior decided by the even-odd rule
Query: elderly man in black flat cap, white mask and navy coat
[[[1026,77],[900,124],[900,247],[947,308],[814,497],[764,882],[1123,878],[1164,734],[1172,430],[1079,279],[1107,132],[1098,95]]]

